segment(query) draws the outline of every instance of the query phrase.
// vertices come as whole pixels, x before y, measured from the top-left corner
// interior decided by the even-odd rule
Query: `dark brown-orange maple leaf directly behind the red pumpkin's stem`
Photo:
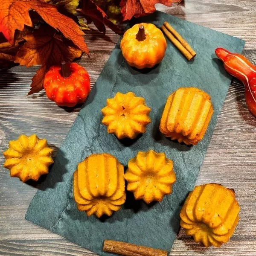
[[[15,62],[26,67],[42,65],[32,79],[28,95],[43,89],[44,76],[49,67],[61,61],[72,62],[83,52],[70,40],[57,35],[49,26],[41,26],[23,38],[26,43],[17,52]]]

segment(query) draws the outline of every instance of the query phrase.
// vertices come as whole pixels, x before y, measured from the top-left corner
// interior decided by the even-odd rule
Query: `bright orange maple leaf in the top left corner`
[[[84,42],[84,32],[70,17],[58,12],[57,7],[43,0],[0,0],[0,32],[14,44],[15,29],[23,30],[24,25],[33,26],[29,10],[37,12],[42,19],[53,28],[60,31],[64,37],[89,55]]]

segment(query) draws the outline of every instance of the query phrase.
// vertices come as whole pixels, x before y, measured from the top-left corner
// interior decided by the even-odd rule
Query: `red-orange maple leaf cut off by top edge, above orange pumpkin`
[[[162,3],[172,6],[172,3],[179,3],[182,0],[121,0],[121,12],[123,20],[131,20],[132,17],[141,17],[156,11],[155,4]]]

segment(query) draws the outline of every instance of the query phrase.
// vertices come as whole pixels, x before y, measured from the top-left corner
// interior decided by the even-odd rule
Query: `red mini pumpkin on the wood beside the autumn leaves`
[[[74,107],[90,93],[90,77],[79,64],[62,61],[61,66],[52,66],[46,73],[44,90],[57,105]]]

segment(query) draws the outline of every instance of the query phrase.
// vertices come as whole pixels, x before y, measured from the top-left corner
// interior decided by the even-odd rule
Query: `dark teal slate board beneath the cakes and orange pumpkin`
[[[215,56],[215,48],[224,47],[241,53],[244,47],[244,41],[239,38],[161,12],[136,22],[151,22],[160,27],[165,20],[192,45],[197,52],[195,60],[188,62],[167,40],[168,47],[161,64],[148,71],[134,70],[125,63],[117,44],[61,146],[44,187],[38,190],[26,213],[27,220],[100,255],[109,255],[102,252],[104,239],[171,249],[179,227],[180,207],[195,185],[231,81]],[[189,86],[209,93],[215,110],[204,139],[192,147],[170,141],[158,129],[169,94],[179,87]],[[152,122],[137,140],[121,142],[108,134],[105,125],[101,124],[100,110],[106,99],[116,92],[129,91],[145,98],[152,108]],[[79,162],[92,153],[108,152],[126,166],[138,151],[151,148],[165,152],[174,160],[177,181],[172,195],[164,197],[160,203],[146,205],[135,201],[128,193],[122,209],[110,218],[87,217],[77,210],[73,200],[73,172]]]

